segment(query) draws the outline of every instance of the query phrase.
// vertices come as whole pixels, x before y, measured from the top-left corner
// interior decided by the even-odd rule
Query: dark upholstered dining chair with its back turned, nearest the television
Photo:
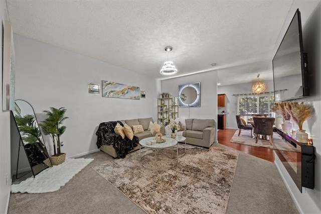
[[[259,140],[260,135],[268,136],[270,144],[273,142],[273,125],[275,118],[253,117],[255,143]]]

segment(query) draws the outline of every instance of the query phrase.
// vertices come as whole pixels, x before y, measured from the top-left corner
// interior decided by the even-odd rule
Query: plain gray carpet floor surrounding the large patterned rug
[[[83,157],[94,161],[58,191],[11,194],[8,213],[145,213],[92,169],[112,157],[104,152]],[[226,213],[298,211],[274,163],[240,152]]]

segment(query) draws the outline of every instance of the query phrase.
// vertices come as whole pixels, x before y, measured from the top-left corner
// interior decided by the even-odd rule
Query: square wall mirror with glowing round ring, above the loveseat
[[[179,106],[200,107],[201,106],[201,83],[179,85]]]

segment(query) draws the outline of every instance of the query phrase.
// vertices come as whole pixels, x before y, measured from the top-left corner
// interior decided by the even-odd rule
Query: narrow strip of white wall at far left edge
[[[4,23],[8,17],[6,1],[0,1],[0,19]],[[2,28],[2,27],[1,27]],[[2,41],[3,34],[0,34]],[[0,51],[2,59],[2,51]],[[0,60],[0,67],[2,68],[2,60]],[[1,88],[2,75],[0,75]],[[2,92],[0,93],[0,100],[2,100]],[[6,176],[8,175],[8,183]],[[10,112],[3,112],[2,105],[0,111],[0,213],[6,213],[9,204],[11,185],[11,166],[10,166]]]

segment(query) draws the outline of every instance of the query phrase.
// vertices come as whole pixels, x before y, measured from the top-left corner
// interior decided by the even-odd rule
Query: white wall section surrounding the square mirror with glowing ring
[[[201,82],[201,107],[180,107],[179,118],[214,119],[217,123],[217,71],[162,80],[162,92],[172,93],[175,97],[178,96],[179,85],[196,82]]]

